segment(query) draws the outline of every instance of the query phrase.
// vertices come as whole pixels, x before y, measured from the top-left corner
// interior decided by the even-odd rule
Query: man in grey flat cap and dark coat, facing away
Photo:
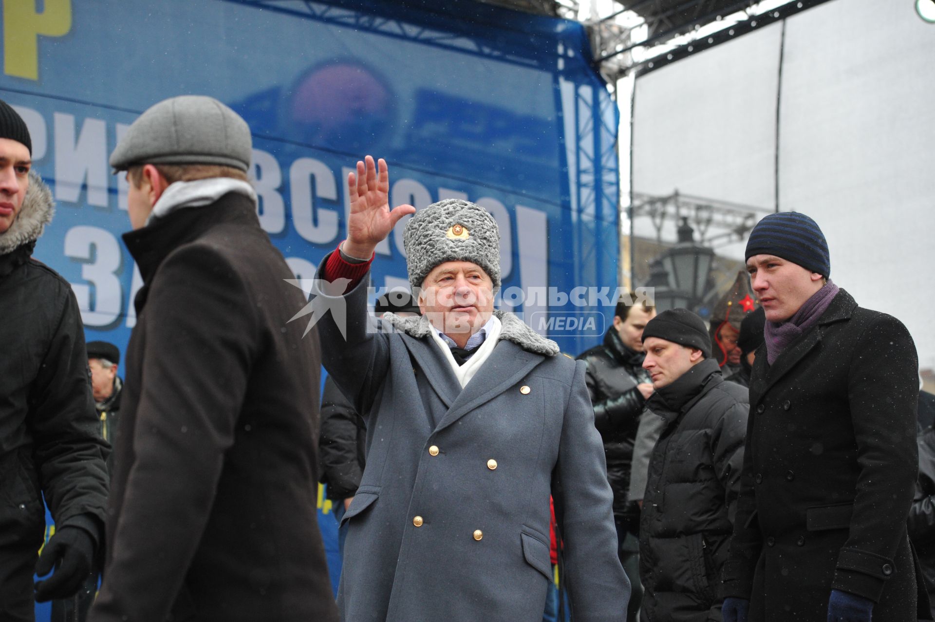
[[[314,335],[260,228],[250,128],[203,96],[144,112],[127,171],[143,286],[94,622],[336,620],[315,522]]]

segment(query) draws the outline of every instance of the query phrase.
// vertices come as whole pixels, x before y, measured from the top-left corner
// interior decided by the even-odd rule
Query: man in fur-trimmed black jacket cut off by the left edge
[[[0,101],[0,620],[64,599],[104,542],[108,444],[98,433],[84,328],[71,286],[32,259],[52,195],[30,170],[32,141]],[[56,530],[43,548],[45,507]]]

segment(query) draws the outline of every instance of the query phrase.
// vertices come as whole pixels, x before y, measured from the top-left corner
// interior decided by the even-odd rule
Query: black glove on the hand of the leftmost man
[[[51,576],[36,582],[36,601],[66,599],[74,596],[91,574],[94,563],[94,538],[79,527],[57,530],[42,548],[36,562],[36,574]]]

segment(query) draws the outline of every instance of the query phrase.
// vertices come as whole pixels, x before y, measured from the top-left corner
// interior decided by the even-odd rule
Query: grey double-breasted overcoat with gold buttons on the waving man
[[[367,422],[342,619],[539,622],[553,494],[575,621],[623,622],[630,587],[584,363],[496,311],[500,339],[462,389],[427,319],[373,319],[367,285],[343,297],[346,340],[332,313],[319,324],[324,367]]]

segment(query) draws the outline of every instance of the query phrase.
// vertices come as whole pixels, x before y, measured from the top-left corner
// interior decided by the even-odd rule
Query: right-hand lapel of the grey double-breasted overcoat
[[[512,341],[500,340],[494,352],[484,361],[481,369],[454,400],[451,408],[439,422],[436,431],[451,426],[468,412],[500,395],[518,383],[529,371],[539,365],[542,354],[526,352]],[[447,363],[445,365],[447,367]],[[456,383],[456,381],[455,381]]]

